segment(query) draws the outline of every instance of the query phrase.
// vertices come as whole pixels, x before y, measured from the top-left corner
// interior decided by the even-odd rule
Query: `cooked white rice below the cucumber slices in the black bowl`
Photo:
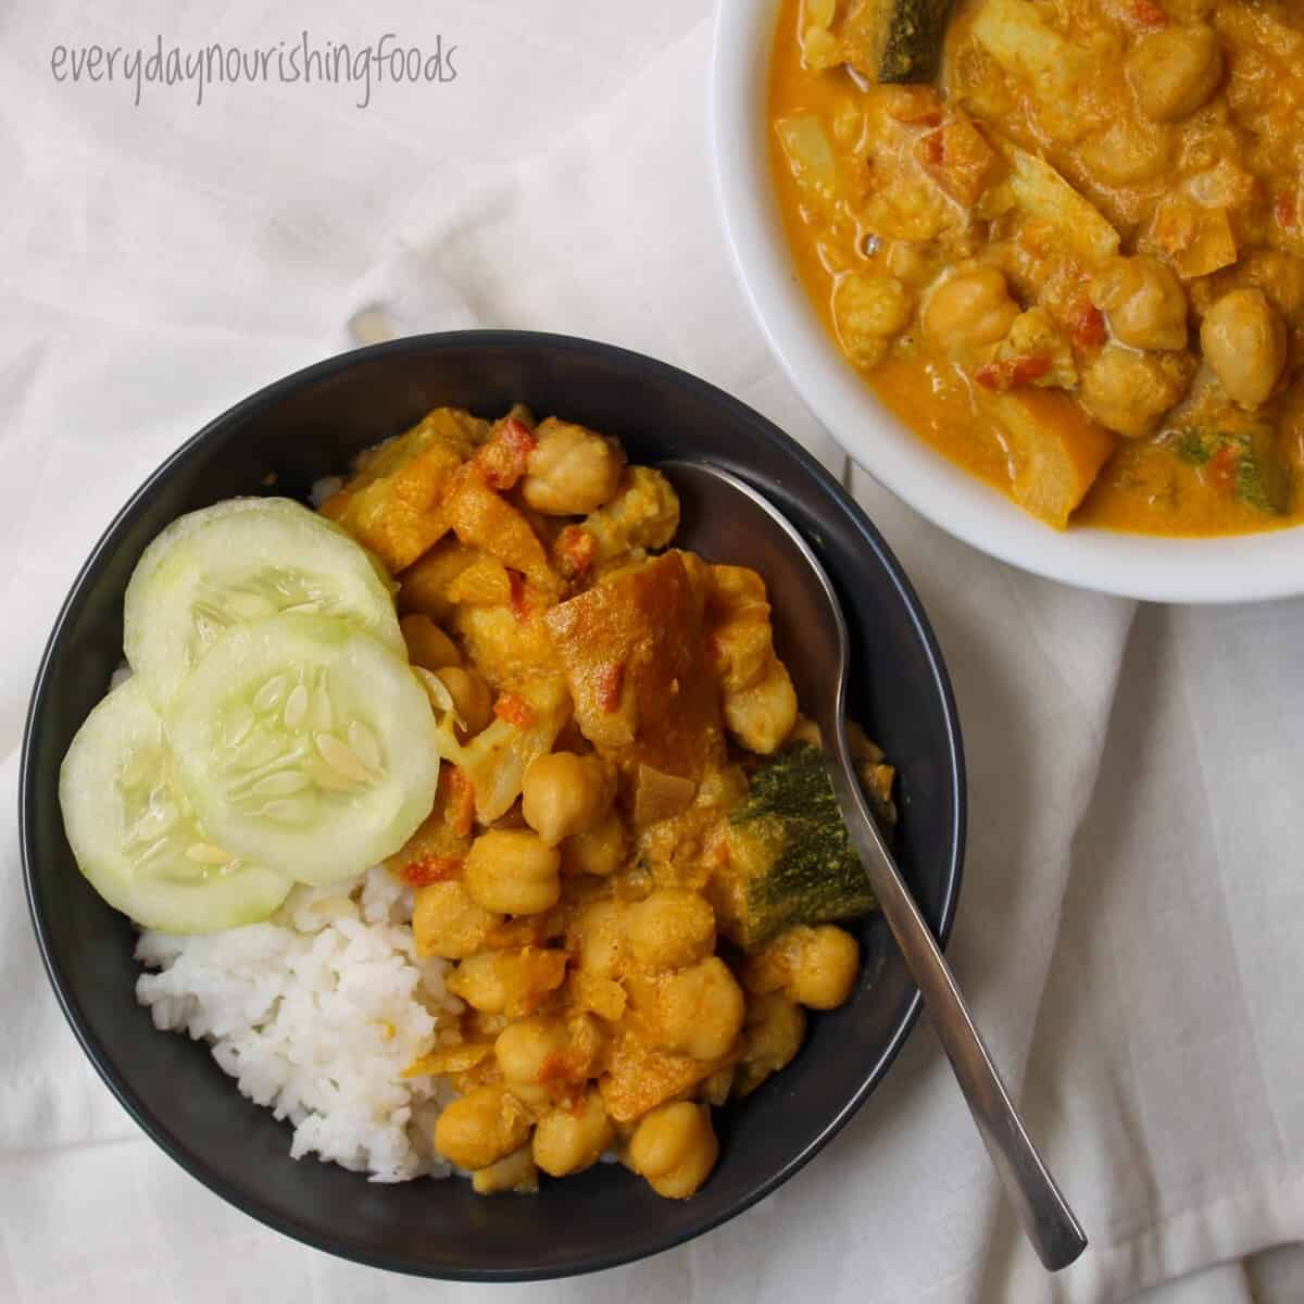
[[[289,1153],[370,1174],[445,1178],[429,1144],[451,1090],[403,1078],[458,1039],[446,960],[420,960],[412,893],[383,866],[296,887],[266,923],[173,936],[143,932],[136,996],[162,1030],[209,1041],[240,1091],[293,1124]]]

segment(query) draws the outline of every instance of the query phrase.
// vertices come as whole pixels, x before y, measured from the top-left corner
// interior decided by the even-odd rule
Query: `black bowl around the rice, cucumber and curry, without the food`
[[[854,998],[811,1020],[788,1069],[717,1111],[721,1159],[691,1200],[661,1200],[610,1166],[549,1183],[537,1198],[486,1200],[459,1180],[369,1184],[292,1161],[286,1125],[245,1101],[203,1045],[154,1030],[133,996],[132,925],[77,872],[57,782],[121,657],[128,576],[170,520],[232,494],[306,498],[316,479],[436,404],[497,415],[514,400],[618,436],[634,462],[699,456],[726,467],[801,528],[846,610],[855,715],[900,771],[902,868],[945,938],[964,849],[960,726],[932,631],[878,531],[814,459],[726,394],[636,353],[556,335],[466,331],[360,349],[269,386],[185,443],[119,514],[59,614],[37,675],[20,790],[27,896],[51,982],[137,1123],[278,1231],[379,1267],[484,1281],[561,1277],[666,1249],[801,1168],[874,1089],[918,1015],[883,921],[858,927],[866,962]]]

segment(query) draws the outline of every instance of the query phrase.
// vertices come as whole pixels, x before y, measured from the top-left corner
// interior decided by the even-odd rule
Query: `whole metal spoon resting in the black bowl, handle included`
[[[883,917],[923,995],[987,1154],[1028,1239],[1051,1271],[1073,1262],[1086,1236],[992,1064],[956,979],[870,814],[846,743],[850,645],[837,595],[797,531],[737,476],[696,462],[664,462],[679,494],[675,541],[708,561],[745,561],[776,595],[776,617],[798,636],[784,647],[798,696],[820,728],[838,806]],[[776,622],[777,623],[777,622]]]

